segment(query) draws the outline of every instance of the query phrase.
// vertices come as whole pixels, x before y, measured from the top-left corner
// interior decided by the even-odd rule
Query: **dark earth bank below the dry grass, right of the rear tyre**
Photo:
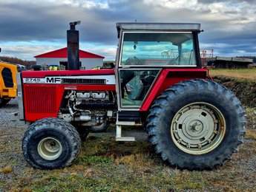
[[[256,107],[256,82],[253,80],[242,80],[237,78],[226,78],[224,76],[214,76],[218,83],[231,89],[241,100],[244,106]]]

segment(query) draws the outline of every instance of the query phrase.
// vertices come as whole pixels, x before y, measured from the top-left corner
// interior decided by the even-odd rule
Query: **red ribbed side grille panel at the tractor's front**
[[[56,112],[56,87],[25,86],[26,111],[29,113]]]

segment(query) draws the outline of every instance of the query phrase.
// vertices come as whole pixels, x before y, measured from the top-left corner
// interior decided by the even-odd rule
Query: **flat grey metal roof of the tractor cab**
[[[116,29],[120,30],[157,30],[157,31],[197,31],[200,32],[200,24],[197,23],[116,23]]]

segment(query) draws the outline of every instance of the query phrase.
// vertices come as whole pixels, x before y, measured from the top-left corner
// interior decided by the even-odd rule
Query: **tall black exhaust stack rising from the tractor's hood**
[[[79,70],[79,31],[76,24],[81,21],[70,22],[70,30],[67,30],[67,51],[68,51],[68,70]]]

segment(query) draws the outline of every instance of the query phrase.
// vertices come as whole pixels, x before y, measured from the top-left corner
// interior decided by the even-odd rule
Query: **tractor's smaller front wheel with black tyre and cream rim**
[[[34,168],[64,168],[78,156],[81,140],[70,123],[58,118],[45,118],[27,129],[22,149],[25,160]]]

